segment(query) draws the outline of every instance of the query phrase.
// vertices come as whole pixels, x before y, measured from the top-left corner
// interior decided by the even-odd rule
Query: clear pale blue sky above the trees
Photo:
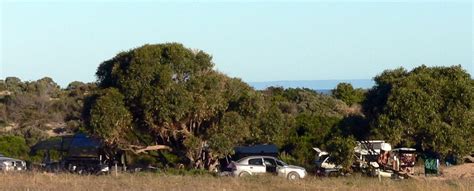
[[[0,78],[93,82],[117,53],[166,42],[246,82],[371,79],[422,64],[474,74],[471,0],[0,1]]]

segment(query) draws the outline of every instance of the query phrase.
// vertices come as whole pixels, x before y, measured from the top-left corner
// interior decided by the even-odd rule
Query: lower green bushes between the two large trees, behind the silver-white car
[[[299,165],[311,168],[315,155],[313,147],[325,149],[333,137],[349,136],[352,131],[345,130],[356,130],[358,125],[345,120],[346,116],[355,117],[348,115],[346,104],[314,90],[270,87],[263,94],[269,109],[259,117],[265,123],[261,123],[258,130],[265,132],[262,137],[270,141],[256,142],[276,143],[285,153],[283,157]],[[278,130],[272,133],[270,129]]]

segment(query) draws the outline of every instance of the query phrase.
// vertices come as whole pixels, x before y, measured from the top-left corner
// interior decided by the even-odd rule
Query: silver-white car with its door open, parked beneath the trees
[[[308,173],[303,167],[288,165],[271,156],[249,156],[229,164],[233,176],[270,173],[290,180],[304,178]]]

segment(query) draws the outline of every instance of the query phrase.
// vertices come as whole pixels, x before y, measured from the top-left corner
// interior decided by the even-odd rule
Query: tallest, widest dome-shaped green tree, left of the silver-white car
[[[216,142],[224,144],[222,136],[235,129],[245,135],[245,121],[259,112],[259,96],[248,85],[212,67],[208,54],[168,43],[120,53],[99,66],[97,77],[101,89],[124,96],[140,144],[168,145],[189,167],[210,169],[242,136],[228,137],[224,148]],[[230,124],[237,113],[242,120]]]

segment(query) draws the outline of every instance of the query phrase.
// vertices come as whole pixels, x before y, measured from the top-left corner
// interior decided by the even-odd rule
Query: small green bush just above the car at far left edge
[[[29,150],[23,137],[13,135],[0,136],[0,153],[4,156],[26,160],[28,159]]]

